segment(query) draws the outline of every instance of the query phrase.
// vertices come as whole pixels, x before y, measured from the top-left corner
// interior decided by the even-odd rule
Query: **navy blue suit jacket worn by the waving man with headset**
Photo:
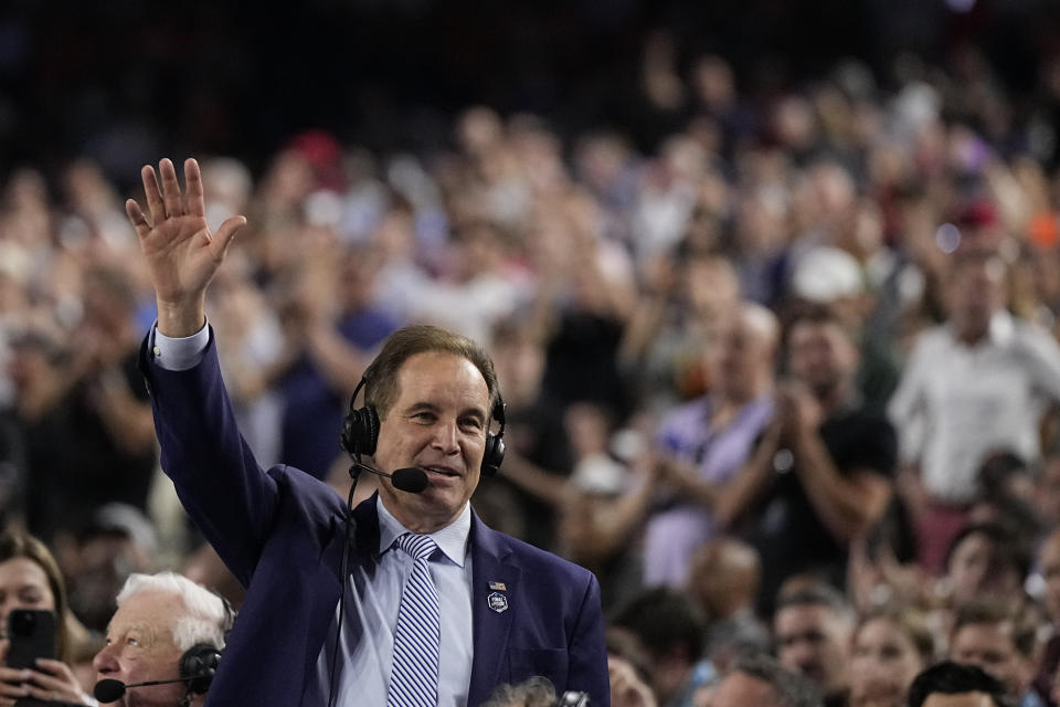
[[[346,504],[310,475],[262,469],[236,426],[211,331],[203,360],[187,371],[150,361],[162,469],[184,509],[247,588],[206,704],[300,704],[329,633],[341,591]],[[374,499],[354,510],[351,567],[379,549]],[[474,659],[468,705],[500,683],[543,675],[558,693],[584,690],[610,705],[600,585],[591,572],[488,528],[470,532]],[[489,583],[504,583],[508,609],[489,608]],[[344,630],[344,629],[343,629]],[[330,632],[333,639],[333,632]]]

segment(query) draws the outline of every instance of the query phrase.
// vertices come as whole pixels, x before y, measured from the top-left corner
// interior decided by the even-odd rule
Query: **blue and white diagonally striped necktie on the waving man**
[[[430,536],[406,532],[398,547],[412,556],[394,631],[394,664],[386,707],[435,707],[438,703],[438,590],[427,558],[437,549]]]

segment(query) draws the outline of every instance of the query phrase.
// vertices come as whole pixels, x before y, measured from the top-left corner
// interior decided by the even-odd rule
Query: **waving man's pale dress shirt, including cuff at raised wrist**
[[[186,338],[170,338],[155,328],[149,346],[159,367],[187,370],[199,363],[209,341],[206,326]],[[386,510],[381,498],[377,498],[375,509],[379,515],[379,557],[374,572],[365,572],[363,567],[356,566],[348,579],[346,616],[342,620],[336,668],[336,705],[386,704],[398,609],[405,580],[412,573],[413,559],[404,552],[391,551],[398,537],[409,532],[409,529]],[[455,521],[430,534],[438,546],[430,564],[431,577],[438,589],[442,620],[438,705],[446,707],[467,705],[471,680],[470,530],[471,509],[469,504],[465,504]],[[309,680],[303,696],[303,705],[307,707],[328,704],[338,612],[336,604],[331,629],[317,658],[316,680]],[[359,636],[370,636],[372,640],[364,641]]]

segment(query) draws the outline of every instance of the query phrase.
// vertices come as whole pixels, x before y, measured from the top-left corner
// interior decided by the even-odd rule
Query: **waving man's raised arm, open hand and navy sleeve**
[[[218,233],[210,232],[195,160],[184,163],[184,193],[172,162],[163,159],[159,172],[161,186],[152,168],[141,172],[148,213],[132,200],[126,210],[158,299],[158,331],[187,337],[202,330],[206,287],[245,220],[229,219]],[[141,371],[151,391],[162,469],[184,510],[245,585],[273,521],[277,485],[239,433],[214,344],[206,338],[202,358],[191,368],[163,366],[144,349]]]

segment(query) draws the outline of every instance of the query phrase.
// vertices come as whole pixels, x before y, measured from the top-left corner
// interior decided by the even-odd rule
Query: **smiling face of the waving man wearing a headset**
[[[427,473],[421,494],[381,479],[383,505],[415,532],[453,523],[481,471],[489,425],[489,388],[466,358],[441,351],[411,356],[398,371],[398,398],[380,411],[374,461],[384,472],[417,466]]]

